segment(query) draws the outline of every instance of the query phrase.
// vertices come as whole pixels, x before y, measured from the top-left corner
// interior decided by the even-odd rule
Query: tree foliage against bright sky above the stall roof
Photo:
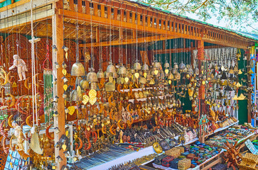
[[[252,28],[258,32],[258,0],[141,0],[165,10],[181,15],[195,13],[203,21],[215,17],[218,21],[227,22],[227,28],[238,30]]]

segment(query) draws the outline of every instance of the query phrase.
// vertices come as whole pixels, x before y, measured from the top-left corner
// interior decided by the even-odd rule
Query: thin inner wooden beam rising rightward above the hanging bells
[[[87,43],[87,44],[80,44],[79,47],[99,47],[99,46],[109,46],[109,45],[126,45],[126,44],[135,44],[136,42],[141,43],[141,42],[151,42],[155,40],[166,40],[166,39],[173,39],[175,38],[174,36],[166,36],[166,35],[157,35],[157,36],[151,36],[151,37],[146,37],[146,38],[134,38],[134,39],[123,39],[122,41],[120,40],[114,40],[112,42],[95,42],[95,43]]]

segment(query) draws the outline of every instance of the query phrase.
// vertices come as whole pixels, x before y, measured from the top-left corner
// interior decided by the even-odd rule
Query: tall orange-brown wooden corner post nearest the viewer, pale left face
[[[56,3],[57,8],[63,8],[63,1],[58,1]],[[63,63],[63,16],[55,13],[52,16],[52,30],[53,30],[53,45],[58,48],[57,51],[53,50],[53,79],[57,79],[57,84],[53,84],[53,96],[58,96],[58,103],[54,104],[54,108],[57,105],[57,110],[59,113],[58,117],[54,117],[54,126],[58,127],[60,132],[55,133],[55,144],[60,140],[62,135],[65,135],[65,102],[63,98],[63,73],[62,67],[55,69],[55,62],[61,66]],[[55,162],[57,162],[56,169],[61,169],[63,165],[66,165],[65,154],[63,149],[55,148]],[[60,156],[63,161],[58,162],[57,157]]]

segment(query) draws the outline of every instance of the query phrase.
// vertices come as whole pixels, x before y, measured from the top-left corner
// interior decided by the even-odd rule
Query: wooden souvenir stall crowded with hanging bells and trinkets
[[[0,14],[0,169],[209,169],[256,137],[254,38],[133,1]]]

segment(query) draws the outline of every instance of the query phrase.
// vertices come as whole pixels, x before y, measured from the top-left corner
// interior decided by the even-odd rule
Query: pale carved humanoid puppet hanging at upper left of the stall
[[[9,70],[17,67],[18,77],[19,77],[18,81],[26,80],[25,72],[28,72],[26,63],[20,57],[18,57],[18,55],[14,55],[13,57],[14,57],[14,64],[9,68]]]

